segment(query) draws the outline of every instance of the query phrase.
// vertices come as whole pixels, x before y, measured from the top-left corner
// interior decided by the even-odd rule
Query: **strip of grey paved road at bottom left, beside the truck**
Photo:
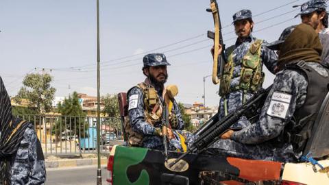
[[[106,167],[101,167],[102,184],[106,184]],[[47,182],[50,185],[89,185],[96,184],[97,166],[47,169]]]

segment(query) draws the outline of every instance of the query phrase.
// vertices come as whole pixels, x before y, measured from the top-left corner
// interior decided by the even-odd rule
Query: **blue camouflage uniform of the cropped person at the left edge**
[[[38,159],[36,145],[37,138],[34,127],[27,127],[16,156],[12,160],[12,184],[35,185],[45,183],[45,160]]]

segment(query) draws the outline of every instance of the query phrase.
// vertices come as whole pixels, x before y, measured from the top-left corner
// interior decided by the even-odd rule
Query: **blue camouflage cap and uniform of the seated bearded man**
[[[158,65],[169,65],[164,54],[162,53],[151,53],[143,58],[144,66],[158,66]],[[158,97],[161,101],[161,104],[164,104],[164,99],[162,97],[163,87],[154,86],[149,82],[149,79],[145,79],[145,84],[151,86],[156,90]],[[132,99],[134,97],[134,99]],[[127,102],[129,103],[128,115],[130,119],[130,125],[134,132],[141,134],[143,136],[141,147],[147,147],[151,149],[163,149],[162,137],[158,136],[156,129],[161,129],[161,119],[151,125],[145,119],[145,95],[143,90],[138,86],[131,88],[127,93]],[[173,108],[171,113],[177,118],[177,125],[173,127],[173,134],[175,138],[170,140],[169,149],[175,150],[179,149],[182,151],[182,145],[180,143],[180,138],[178,134],[181,134],[186,138],[186,143],[193,140],[191,133],[182,131],[184,129],[184,121],[182,119],[182,114],[178,103],[173,99]]]

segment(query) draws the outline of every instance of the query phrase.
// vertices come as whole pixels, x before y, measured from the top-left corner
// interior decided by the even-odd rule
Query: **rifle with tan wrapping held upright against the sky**
[[[224,54],[225,45],[223,42],[223,35],[221,34],[221,17],[219,16],[219,8],[216,0],[210,0],[210,8],[207,8],[207,12],[212,12],[212,17],[214,18],[215,32],[208,31],[207,36],[214,40],[214,62],[212,64],[212,83],[219,84],[219,78],[223,72],[223,62],[227,61]],[[221,44],[222,52],[219,56],[219,44]],[[219,73],[218,73],[219,64]],[[218,75],[218,76],[217,76]]]

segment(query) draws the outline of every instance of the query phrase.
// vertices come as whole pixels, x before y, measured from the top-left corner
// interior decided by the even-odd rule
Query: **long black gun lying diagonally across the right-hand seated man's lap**
[[[217,123],[208,125],[206,130],[202,132],[202,134],[195,140],[195,142],[189,147],[186,153],[183,153],[182,156],[178,157],[175,161],[169,164],[169,167],[173,167],[178,161],[180,161],[184,156],[188,153],[196,152],[202,153],[205,149],[207,149],[212,143],[217,141],[221,134],[226,132],[230,126],[239,121],[241,116],[246,116],[249,118],[254,118],[255,112],[257,112],[258,108],[263,107],[265,99],[271,90],[272,86],[269,86],[266,90],[261,90],[252,99],[249,99],[243,106],[235,110],[234,112],[230,112],[227,116],[225,116]],[[212,122],[214,123],[214,122]]]

